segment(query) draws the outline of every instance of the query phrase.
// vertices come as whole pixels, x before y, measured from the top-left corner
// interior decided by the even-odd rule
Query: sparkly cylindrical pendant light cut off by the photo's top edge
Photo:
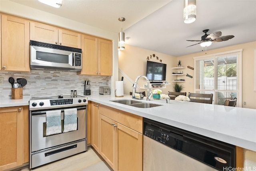
[[[186,24],[196,21],[196,0],[184,0],[183,18]]]

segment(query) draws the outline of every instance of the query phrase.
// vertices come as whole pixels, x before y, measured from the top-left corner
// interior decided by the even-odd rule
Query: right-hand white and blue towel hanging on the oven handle
[[[75,131],[77,130],[77,109],[64,109],[64,131]]]

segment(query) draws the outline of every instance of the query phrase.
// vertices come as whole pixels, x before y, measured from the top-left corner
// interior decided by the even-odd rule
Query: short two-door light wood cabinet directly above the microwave
[[[30,22],[30,40],[81,48],[81,34],[38,22]]]

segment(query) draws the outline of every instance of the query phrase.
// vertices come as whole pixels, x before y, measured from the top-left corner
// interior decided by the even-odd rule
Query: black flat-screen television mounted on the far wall
[[[147,61],[146,77],[148,80],[165,81],[166,80],[166,64]]]

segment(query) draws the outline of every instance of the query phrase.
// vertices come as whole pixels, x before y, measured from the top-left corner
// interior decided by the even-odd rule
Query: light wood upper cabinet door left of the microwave
[[[29,72],[29,22],[2,15],[1,32],[2,70]]]

